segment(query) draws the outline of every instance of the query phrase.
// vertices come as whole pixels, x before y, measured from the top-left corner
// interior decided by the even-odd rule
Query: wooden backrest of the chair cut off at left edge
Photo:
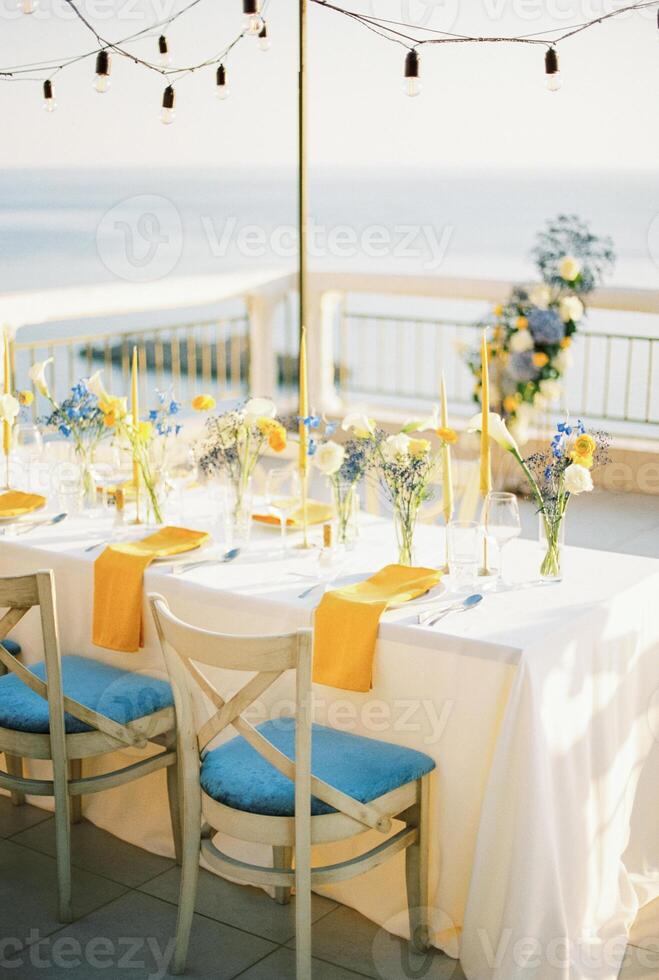
[[[48,702],[50,721],[51,755],[61,754],[66,758],[64,713],[68,712],[90,728],[102,732],[112,739],[136,747],[144,747],[146,739],[130,731],[124,725],[113,721],[106,715],[80,704],[67,697],[62,689],[62,661],[60,657],[59,631],[55,599],[55,579],[52,571],[40,571],[34,575],[21,575],[0,578],[0,609],[7,612],[0,619],[0,641],[7,638],[10,631],[34,606],[39,606],[41,614],[41,634],[43,639],[46,679],[41,680],[28,670],[19,660],[4,649],[0,642],[0,663],[7,671],[16,674],[23,683]]]

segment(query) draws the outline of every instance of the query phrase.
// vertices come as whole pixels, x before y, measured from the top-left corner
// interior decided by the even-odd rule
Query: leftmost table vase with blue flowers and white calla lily
[[[108,434],[105,416],[101,411],[98,396],[84,380],[78,381],[71,388],[64,401],[55,400],[46,380],[46,368],[52,360],[53,358],[49,357],[46,361],[33,364],[29,371],[30,381],[51,405],[50,413],[40,416],[38,421],[40,425],[59,432],[65,439],[71,440],[80,464],[85,499],[92,501],[94,495],[92,467],[99,444]]]

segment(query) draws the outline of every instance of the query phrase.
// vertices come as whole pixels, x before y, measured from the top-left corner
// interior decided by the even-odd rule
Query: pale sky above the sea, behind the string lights
[[[613,9],[612,0],[343,0],[345,6],[436,29],[524,34],[566,27]],[[115,40],[181,0],[81,0]],[[618,3],[623,6],[623,3]],[[463,10],[458,14],[458,7]],[[536,167],[656,169],[659,44],[656,8],[624,15],[562,46],[563,89],[544,86],[544,48],[441,45],[422,51],[423,92],[402,92],[404,48],[310,4],[310,158],[322,167]],[[32,16],[0,0],[2,67],[94,47],[62,0]],[[464,8],[468,8],[465,10]],[[108,19],[107,11],[115,13]],[[167,35],[174,63],[221,50],[242,23],[240,0],[202,0]],[[552,15],[548,13],[552,10]],[[214,69],[177,85],[177,119],[159,122],[162,81],[114,58],[112,88],[92,88],[93,59],[55,78],[57,112],[28,82],[0,83],[3,167],[287,167],[296,153],[295,0],[269,0],[272,49],[252,39],[232,53],[231,97],[215,98]],[[155,39],[135,48],[149,56]]]

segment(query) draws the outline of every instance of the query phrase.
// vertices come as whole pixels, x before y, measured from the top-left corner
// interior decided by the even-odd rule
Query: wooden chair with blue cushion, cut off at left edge
[[[81,819],[82,797],[167,768],[172,827],[180,857],[177,803],[175,713],[169,684],[154,677],[121,671],[84,657],[61,657],[53,573],[37,572],[0,578],[0,641],[32,609],[39,606],[45,660],[28,670],[0,642],[0,752],[7,772],[0,787],[15,804],[25,794],[55,800],[59,918],[72,920],[70,823]],[[100,707],[105,712],[98,710]],[[113,717],[114,716],[114,717]],[[165,748],[155,756],[123,769],[83,777],[82,761],[126,746]],[[52,761],[53,778],[29,779],[23,759]]]

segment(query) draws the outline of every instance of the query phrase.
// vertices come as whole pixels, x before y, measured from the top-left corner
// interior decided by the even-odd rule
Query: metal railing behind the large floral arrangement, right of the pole
[[[335,332],[342,399],[436,401],[444,366],[454,411],[473,411],[474,379],[464,353],[478,345],[473,321],[343,310]],[[581,331],[572,347],[564,407],[630,434],[659,427],[659,337]]]

